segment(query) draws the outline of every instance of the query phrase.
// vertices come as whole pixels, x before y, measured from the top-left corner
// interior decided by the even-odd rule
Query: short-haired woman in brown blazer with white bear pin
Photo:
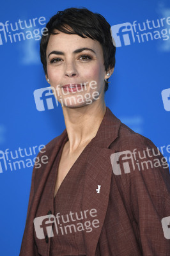
[[[33,170],[20,256],[169,255],[168,164],[105,106],[110,25],[69,8],[47,28],[41,60],[66,129],[40,152],[49,163]]]

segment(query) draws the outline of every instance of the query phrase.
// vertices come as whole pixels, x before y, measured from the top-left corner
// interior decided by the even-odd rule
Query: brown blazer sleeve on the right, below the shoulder
[[[167,161],[151,143],[128,152],[128,163],[125,164],[125,157],[120,160],[122,170],[124,168],[121,191],[137,225],[143,256],[168,256],[170,174]]]

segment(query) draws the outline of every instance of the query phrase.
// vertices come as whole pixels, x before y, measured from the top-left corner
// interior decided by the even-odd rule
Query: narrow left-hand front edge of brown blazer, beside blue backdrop
[[[50,173],[50,170],[52,168],[52,164],[54,163],[54,159],[56,158],[56,155],[58,154],[59,148],[61,147],[61,143],[63,140],[66,140],[67,133],[66,130],[63,131],[63,133],[54,141],[52,141],[52,145],[50,142],[46,145],[46,152],[43,153],[43,155],[47,155],[49,162],[47,164],[42,164],[42,168],[33,169],[33,177],[35,183],[31,186],[30,196],[29,196],[29,205],[27,210],[27,220],[26,220],[26,227],[24,230],[24,236],[22,238],[22,246],[20,249],[20,256],[30,256],[35,255],[35,241],[34,241],[34,225],[33,220],[36,216],[36,211],[38,204],[40,202],[40,197],[42,195],[43,188],[45,186],[45,182],[47,180],[47,177]],[[40,154],[40,156],[42,153]],[[37,176],[36,176],[37,175]],[[36,179],[36,177],[39,177],[40,179]],[[53,200],[53,198],[50,198]],[[27,234],[29,234],[29,239],[27,239]]]

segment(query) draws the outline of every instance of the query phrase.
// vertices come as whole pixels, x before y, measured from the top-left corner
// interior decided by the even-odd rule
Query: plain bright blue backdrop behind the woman
[[[162,147],[170,163],[168,0],[4,1],[0,10],[1,256],[19,255],[38,147],[65,129],[60,106],[36,108],[33,92],[49,86],[39,58],[40,34],[58,10],[82,6],[104,15],[118,46],[106,105],[122,122]]]

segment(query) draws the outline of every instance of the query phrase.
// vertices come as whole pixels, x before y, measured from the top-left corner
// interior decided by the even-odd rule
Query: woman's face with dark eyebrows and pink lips
[[[47,76],[52,92],[62,106],[79,108],[104,101],[102,46],[91,38],[60,31],[50,35],[47,45]]]

